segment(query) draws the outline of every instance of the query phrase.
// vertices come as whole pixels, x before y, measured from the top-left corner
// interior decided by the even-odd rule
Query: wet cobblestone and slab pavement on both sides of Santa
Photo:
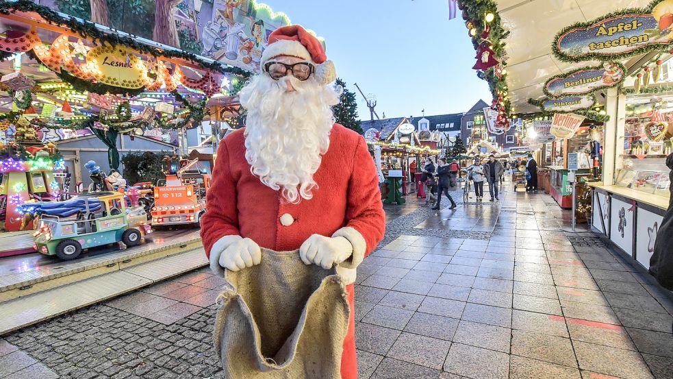
[[[673,378],[670,299],[548,195],[407,199],[358,270],[359,378]],[[0,378],[222,378],[221,284],[201,269],[14,332]]]

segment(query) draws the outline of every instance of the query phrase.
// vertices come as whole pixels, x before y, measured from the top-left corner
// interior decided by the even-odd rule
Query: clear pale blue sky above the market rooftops
[[[448,0],[261,0],[292,23],[313,29],[327,43],[348,89],[377,96],[383,117],[464,112],[486,82],[472,70],[474,49],[460,11],[448,19]],[[357,93],[358,112],[369,112]]]

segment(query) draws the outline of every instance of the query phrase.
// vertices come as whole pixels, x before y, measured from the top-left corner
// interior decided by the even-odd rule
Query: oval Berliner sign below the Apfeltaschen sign
[[[586,67],[548,80],[544,93],[550,97],[585,95],[601,88],[615,86],[624,80],[621,64],[605,62],[602,66]]]

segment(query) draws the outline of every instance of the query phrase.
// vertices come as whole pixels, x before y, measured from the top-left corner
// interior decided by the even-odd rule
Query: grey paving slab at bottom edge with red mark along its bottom
[[[572,345],[581,369],[619,378],[653,378],[648,365],[637,352],[581,341],[573,341]]]

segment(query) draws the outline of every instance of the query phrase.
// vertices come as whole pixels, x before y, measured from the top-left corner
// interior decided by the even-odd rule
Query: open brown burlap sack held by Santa
[[[225,279],[214,330],[225,378],[341,378],[350,308],[335,269],[262,249],[261,264]]]

